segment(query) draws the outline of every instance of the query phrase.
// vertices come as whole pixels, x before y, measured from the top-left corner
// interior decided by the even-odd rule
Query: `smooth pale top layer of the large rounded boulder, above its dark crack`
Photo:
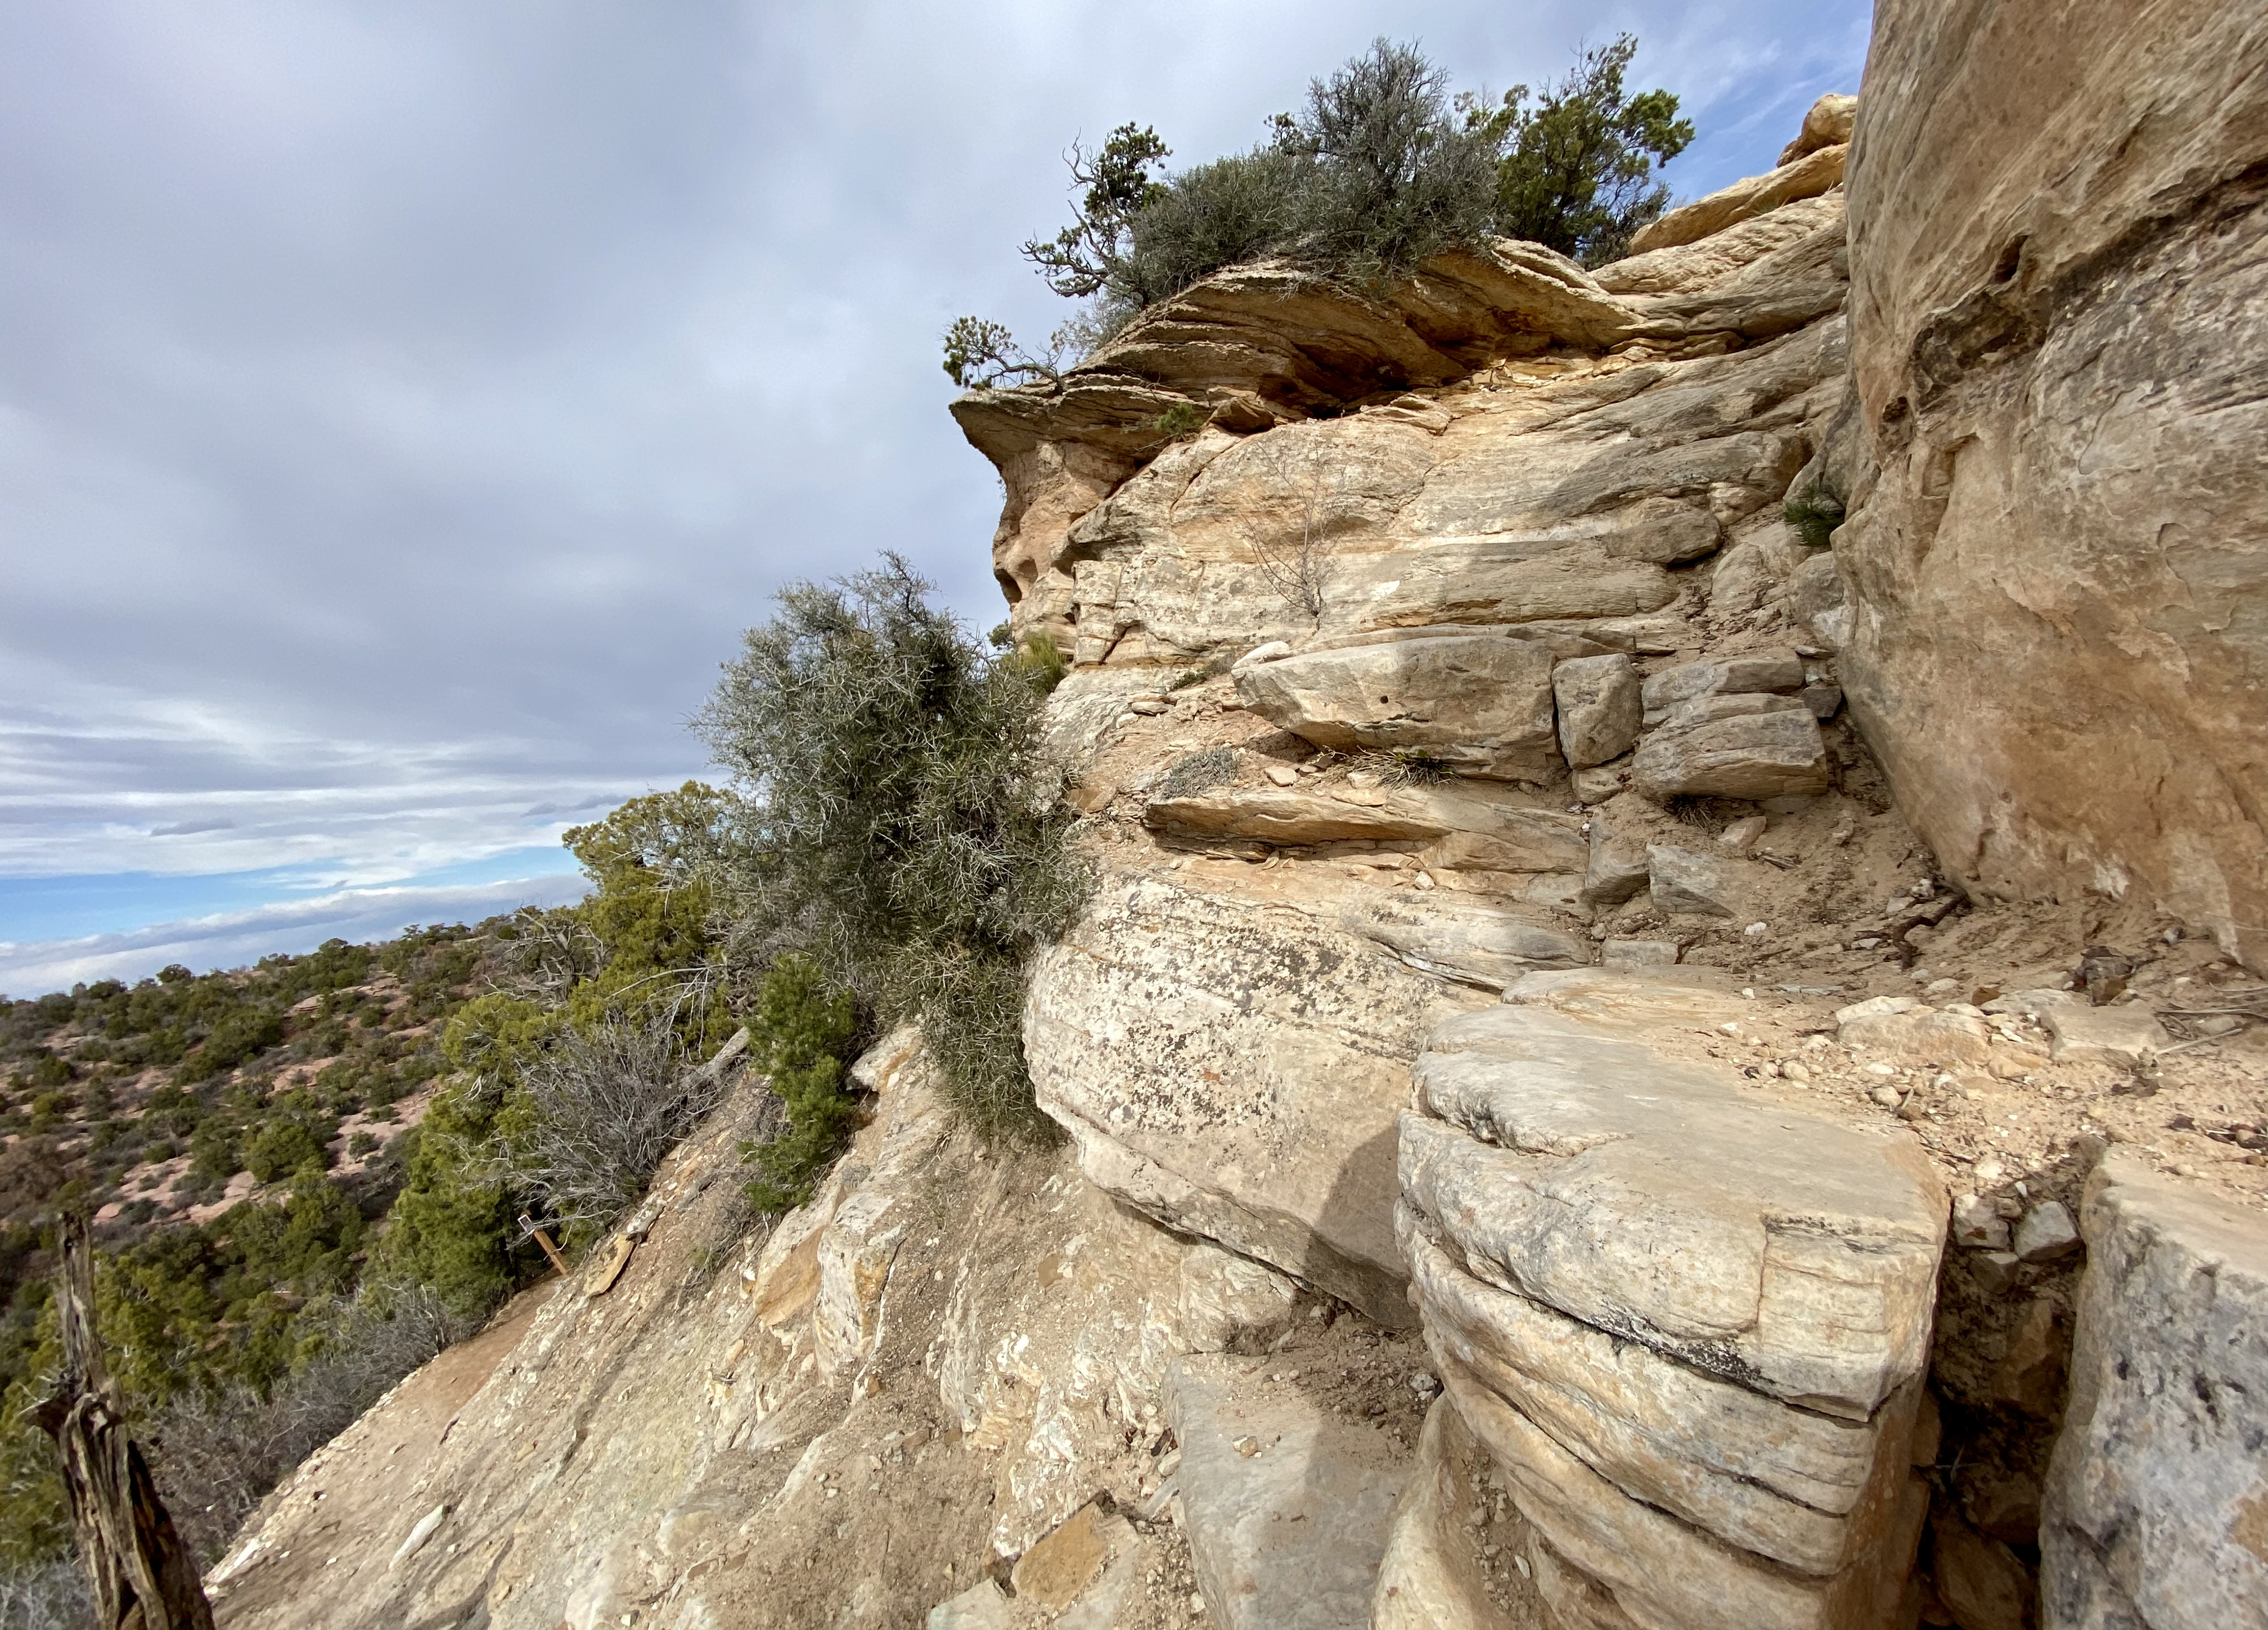
[[[1910,1134],[1529,1004],[1445,1022],[1415,1077],[1402,1197],[1483,1279],[1846,1419],[1921,1374],[1946,1199]]]

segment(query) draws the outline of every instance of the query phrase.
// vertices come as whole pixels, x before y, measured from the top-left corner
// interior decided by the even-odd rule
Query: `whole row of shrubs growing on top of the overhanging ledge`
[[[1556,84],[1501,100],[1452,95],[1415,45],[1377,41],[1277,113],[1250,152],[1163,175],[1173,152],[1148,125],[1073,143],[1073,222],[1023,254],[1057,295],[1089,302],[1043,356],[980,317],[946,331],[957,385],[1057,381],[1084,354],[1200,277],[1281,256],[1377,288],[1442,249],[1529,238],[1583,265],[1628,252],[1662,213],[1656,177],[1692,143],[1667,91],[1624,93],[1628,34],[1576,54]]]

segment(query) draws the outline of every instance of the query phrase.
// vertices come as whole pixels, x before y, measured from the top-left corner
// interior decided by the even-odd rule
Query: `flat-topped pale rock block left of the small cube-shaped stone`
[[[1395,639],[1236,673],[1245,707],[1315,746],[1413,750],[1474,775],[1558,764],[1551,648],[1531,639]]]

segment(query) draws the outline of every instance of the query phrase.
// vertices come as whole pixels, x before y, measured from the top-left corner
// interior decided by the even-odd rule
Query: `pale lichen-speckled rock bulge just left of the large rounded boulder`
[[[1422,1036],[1492,997],[1381,954],[1343,905],[1107,877],[1034,968],[1025,1054],[1105,1190],[1408,1324],[1393,1118]]]

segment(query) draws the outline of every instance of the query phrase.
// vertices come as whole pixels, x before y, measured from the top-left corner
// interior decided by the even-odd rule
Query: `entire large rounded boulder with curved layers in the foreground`
[[[1905,1131],[1653,1041],[1733,1011],[1567,973],[1445,1022],[1399,1127],[1413,1297],[1563,1621],[1887,1630],[1946,1195]]]

